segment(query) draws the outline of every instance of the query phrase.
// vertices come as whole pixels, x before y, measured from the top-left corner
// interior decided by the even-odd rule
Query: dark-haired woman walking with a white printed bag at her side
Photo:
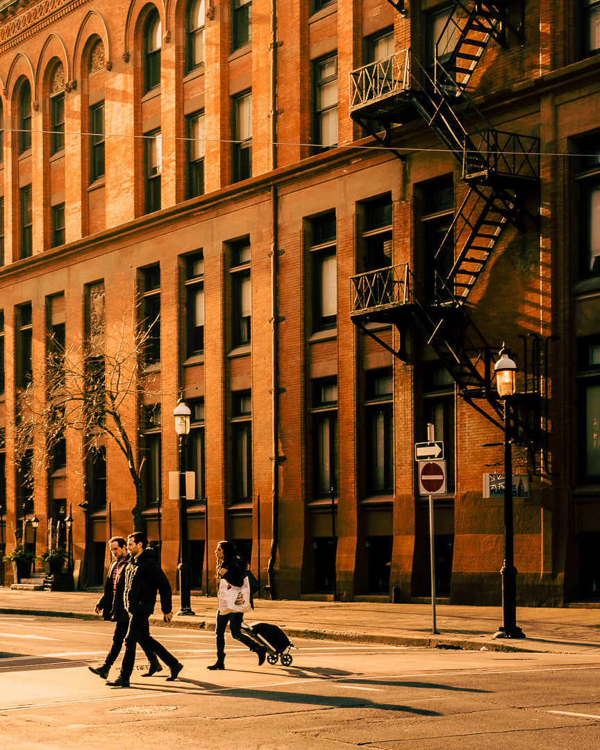
[[[244,583],[246,566],[242,562],[233,541],[220,541],[214,550],[217,557],[217,626],[214,634],[217,638],[217,661],[206,667],[207,669],[225,669],[225,628],[229,622],[231,636],[258,655],[258,663],[263,664],[266,648],[254,643],[250,637],[242,633],[243,612],[232,612],[223,601],[223,586],[225,581],[229,586],[242,586]],[[221,614],[221,611],[226,612]]]

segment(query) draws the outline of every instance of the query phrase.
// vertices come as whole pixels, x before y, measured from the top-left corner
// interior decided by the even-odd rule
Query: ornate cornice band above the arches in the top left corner
[[[29,37],[88,2],[89,0],[41,0],[28,5],[27,0],[18,0],[1,5],[0,54],[19,46]]]

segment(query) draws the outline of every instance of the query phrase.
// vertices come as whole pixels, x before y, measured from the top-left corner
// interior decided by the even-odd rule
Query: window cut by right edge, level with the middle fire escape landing
[[[575,179],[583,208],[583,252],[580,273],[600,273],[600,142],[598,136],[580,142],[580,171]]]

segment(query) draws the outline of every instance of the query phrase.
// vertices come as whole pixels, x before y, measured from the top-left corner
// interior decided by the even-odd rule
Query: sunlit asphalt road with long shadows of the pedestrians
[[[136,671],[118,689],[87,669],[111,634],[104,622],[0,616],[2,747],[600,748],[597,654],[303,640],[290,667],[258,667],[228,637],[226,670],[210,672],[210,633],[154,628],[184,663],[181,676]]]

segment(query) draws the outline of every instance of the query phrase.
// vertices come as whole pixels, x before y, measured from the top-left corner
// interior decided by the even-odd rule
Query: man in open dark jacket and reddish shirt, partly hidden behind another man
[[[121,652],[127,628],[129,627],[129,613],[125,609],[123,598],[125,588],[124,571],[130,559],[127,553],[127,542],[122,536],[113,536],[109,540],[108,545],[110,553],[113,555],[113,564],[108,571],[107,580],[104,583],[104,594],[101,596],[98,604],[96,604],[95,612],[96,614],[102,614],[104,619],[112,620],[115,623],[113,644],[110,647],[107,657],[104,659],[104,664],[101,664],[99,667],[88,667],[90,672],[98,674],[102,679],[107,679],[110,667],[113,666]],[[160,661],[158,661],[154,652],[148,650],[145,652],[145,655],[148,657],[150,666],[143,676],[151,676],[156,672],[160,672],[163,667],[160,666]]]

